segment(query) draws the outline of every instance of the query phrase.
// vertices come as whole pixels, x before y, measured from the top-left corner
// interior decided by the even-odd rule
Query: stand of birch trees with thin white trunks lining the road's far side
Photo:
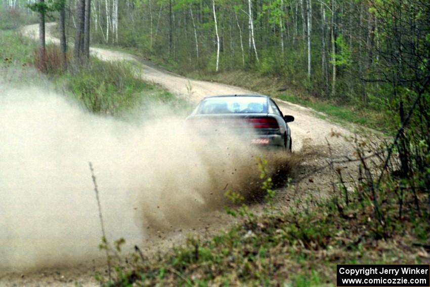
[[[35,0],[21,3],[31,1]],[[81,0],[69,1],[72,6],[74,3],[79,6]],[[3,3],[5,7],[19,7],[18,1],[15,4],[14,0],[3,0]],[[204,63],[211,63],[217,71],[246,67],[291,83],[304,83],[303,79],[308,79],[309,91],[313,93],[322,90],[322,94],[336,97],[348,91],[351,97],[370,103],[369,97],[362,96],[364,92],[372,95],[379,92],[379,86],[366,81],[366,77],[376,77],[371,72],[388,61],[380,52],[391,43],[386,40],[389,37],[386,27],[392,23],[398,25],[395,29],[398,34],[401,29],[413,30],[418,26],[412,23],[404,27],[403,23],[410,19],[419,22],[427,16],[428,9],[420,0],[409,0],[411,5],[407,6],[400,5],[398,0],[349,0],[347,3],[336,0],[93,0],[91,20],[95,28],[91,32],[95,33],[96,41],[138,47],[189,71],[204,68]],[[138,4],[139,9],[135,10]],[[396,4],[397,10],[391,4]],[[391,13],[394,18],[388,14],[377,17],[378,11]],[[79,9],[71,9],[70,22],[76,22],[76,31],[80,25],[78,14]],[[119,22],[121,17],[131,20]],[[317,29],[313,25],[315,19]],[[427,29],[426,23],[419,23],[422,29]],[[118,24],[124,25],[121,31]],[[120,37],[122,31],[127,32],[126,37]],[[407,47],[396,41],[393,49],[398,53],[400,74],[406,68]],[[229,49],[223,49],[227,44]],[[321,61],[315,64],[320,56]],[[223,59],[228,65],[220,67]],[[352,84],[345,85],[346,82]]]

